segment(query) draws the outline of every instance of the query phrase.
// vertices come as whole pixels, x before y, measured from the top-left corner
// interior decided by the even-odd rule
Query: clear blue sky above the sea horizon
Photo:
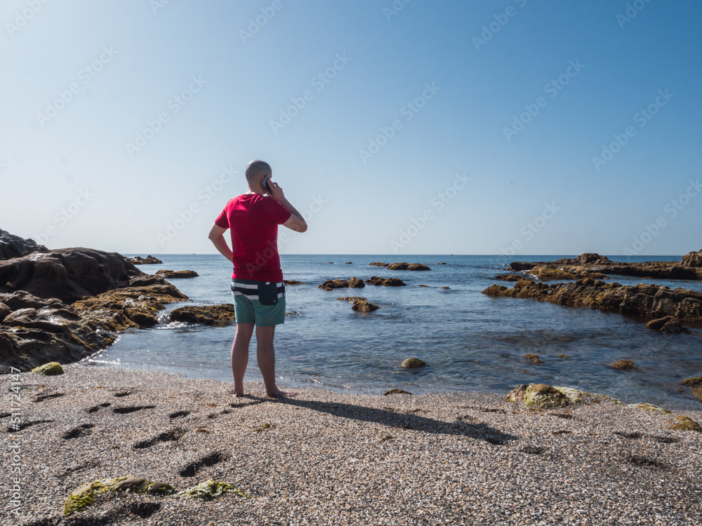
[[[3,0],[0,228],[215,252],[264,159],[281,253],[702,248],[702,3]]]

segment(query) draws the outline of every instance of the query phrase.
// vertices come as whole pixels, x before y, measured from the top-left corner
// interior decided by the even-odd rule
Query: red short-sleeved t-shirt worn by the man
[[[261,194],[242,194],[227,203],[215,224],[232,232],[232,279],[283,281],[278,225],[291,215],[274,198]]]

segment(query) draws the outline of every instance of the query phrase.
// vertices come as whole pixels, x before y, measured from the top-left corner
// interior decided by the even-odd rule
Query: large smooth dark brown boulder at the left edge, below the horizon
[[[128,287],[137,276],[145,274],[117,253],[61,248],[0,261],[0,292],[25,290],[39,298],[72,303]]]

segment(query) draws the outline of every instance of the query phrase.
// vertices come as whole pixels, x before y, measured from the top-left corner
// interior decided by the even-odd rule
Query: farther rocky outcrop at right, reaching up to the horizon
[[[573,272],[578,277],[585,277],[592,273],[604,273],[607,275],[615,274],[617,276],[636,276],[639,278],[701,280],[702,268],[689,264],[698,261],[696,256],[694,256],[696,253],[690,252],[684,257],[682,262],[654,261],[640,263],[614,262],[608,257],[588,253],[581,254],[576,258],[564,257],[551,262],[515,261],[510,264],[508,270],[531,271],[531,269],[536,269],[537,267],[550,267],[560,271]],[[601,275],[597,276],[596,274],[589,277],[602,279]]]

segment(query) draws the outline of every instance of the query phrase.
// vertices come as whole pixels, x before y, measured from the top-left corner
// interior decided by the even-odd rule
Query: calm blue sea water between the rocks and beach
[[[145,254],[143,254],[145,256]],[[176,279],[190,304],[232,301],[232,268],[220,255],[157,255],[159,269],[194,270],[199,277]],[[414,394],[447,391],[507,393],[518,384],[544,383],[604,393],[625,403],[646,402],[668,409],[699,409],[692,389],[680,381],[702,375],[699,328],[679,335],[648,329],[644,321],[590,308],[533,299],[481,294],[511,260],[551,261],[554,256],[503,255],[281,255],[286,318],[276,328],[279,386],[320,386],[336,391],[381,394],[392,388]],[[680,256],[609,256],[613,261],[680,261]],[[430,271],[390,271],[370,262],[423,263]],[[445,264],[439,264],[445,263]],[[366,285],[322,290],[327,279],[401,278],[405,287]],[[611,276],[621,284],[642,283]],[[700,281],[645,280],[643,283],[702,290]],[[419,287],[418,285],[428,285]],[[446,288],[448,287],[448,288]],[[364,296],[380,306],[368,315],[352,311],[343,296]],[[168,323],[170,304],[159,325],[121,332],[115,344],[85,358],[95,367],[176,372],[185,377],[232,381],[230,348],[235,325],[206,327]],[[260,380],[256,337],[251,342],[246,381]],[[536,354],[542,363],[524,358]],[[559,357],[559,354],[567,358]],[[405,370],[405,358],[427,365]],[[634,370],[609,367],[630,359]]]

